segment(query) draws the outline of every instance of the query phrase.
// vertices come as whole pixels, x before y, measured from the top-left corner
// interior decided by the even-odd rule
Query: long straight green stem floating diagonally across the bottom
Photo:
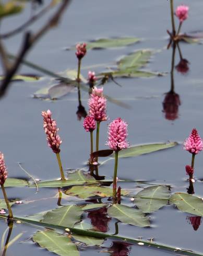
[[[1,215],[0,217],[5,219],[5,215]],[[67,226],[59,226],[59,225],[54,225],[54,224],[49,224],[49,223],[43,223],[43,222],[38,222],[37,220],[32,220],[32,219],[28,219],[28,218],[20,218],[20,217],[14,217],[14,220],[20,220],[21,222],[26,222],[28,224],[32,224],[35,226],[41,226],[41,227],[47,227],[47,228],[53,228],[53,229],[59,229],[59,230],[65,230],[66,228],[70,229],[70,232],[73,232],[76,235],[81,235],[81,236],[89,236],[89,237],[95,237],[95,238],[111,238],[111,239],[118,239],[118,240],[124,240],[126,242],[132,242],[132,243],[144,243],[144,245],[142,247],[145,248],[154,248],[154,249],[159,249],[159,250],[165,250],[168,252],[171,252],[172,254],[174,254],[175,252],[178,254],[182,254],[182,255],[191,255],[191,256],[203,256],[202,253],[199,252],[194,252],[194,251],[190,251],[190,250],[177,250],[175,247],[171,247],[168,245],[163,245],[163,244],[159,244],[159,243],[153,243],[153,242],[148,242],[145,240],[140,240],[140,239],[134,239],[134,238],[128,238],[128,237],[123,237],[120,235],[111,235],[108,233],[103,233],[103,232],[98,232],[98,231],[92,231],[92,230],[86,230],[86,229],[80,229],[80,228],[71,228],[71,227],[67,227]]]

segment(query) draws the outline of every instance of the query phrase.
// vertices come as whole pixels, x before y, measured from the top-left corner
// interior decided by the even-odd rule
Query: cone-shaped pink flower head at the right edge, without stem
[[[189,153],[198,154],[203,149],[203,142],[196,129],[192,130],[190,136],[183,143],[184,149]]]

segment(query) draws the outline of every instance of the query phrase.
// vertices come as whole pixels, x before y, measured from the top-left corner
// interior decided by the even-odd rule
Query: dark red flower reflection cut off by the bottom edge
[[[126,242],[112,242],[109,252],[111,256],[127,256],[130,254],[130,243]]]

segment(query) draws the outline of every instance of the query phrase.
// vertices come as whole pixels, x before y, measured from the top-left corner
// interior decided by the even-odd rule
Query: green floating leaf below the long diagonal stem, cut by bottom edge
[[[32,237],[40,247],[61,256],[79,256],[76,245],[67,236],[59,235],[51,230],[36,232]]]

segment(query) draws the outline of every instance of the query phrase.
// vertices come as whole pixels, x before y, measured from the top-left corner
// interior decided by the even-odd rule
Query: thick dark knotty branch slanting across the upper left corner
[[[45,34],[48,30],[50,30],[53,26],[56,26],[59,22],[59,19],[61,18],[63,12],[65,11],[67,5],[69,4],[70,0],[63,0],[61,6],[57,9],[55,14],[50,18],[49,21],[46,22],[46,24],[33,36],[30,32],[27,32],[25,34],[25,38],[23,40],[23,44],[21,47],[21,50],[17,56],[17,59],[13,63],[13,65],[7,69],[5,78],[2,81],[2,84],[0,85],[0,97],[5,95],[6,90],[8,89],[12,77],[15,75],[15,73],[18,71],[18,68],[28,53],[28,51],[32,48],[35,42],[37,42],[43,34]]]

